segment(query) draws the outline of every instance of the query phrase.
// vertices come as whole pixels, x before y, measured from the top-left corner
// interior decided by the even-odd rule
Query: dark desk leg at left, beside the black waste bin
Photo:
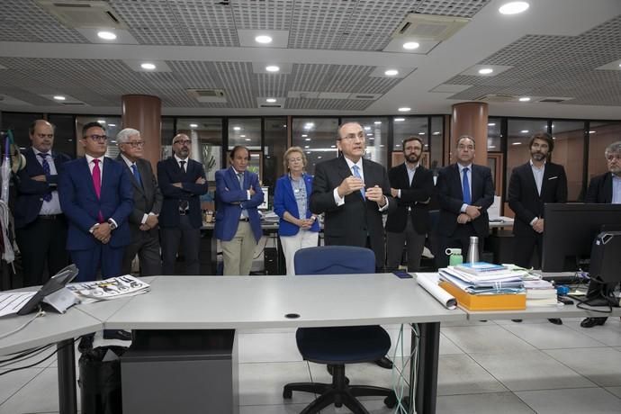
[[[76,414],[76,350],[73,339],[58,342],[59,414]]]

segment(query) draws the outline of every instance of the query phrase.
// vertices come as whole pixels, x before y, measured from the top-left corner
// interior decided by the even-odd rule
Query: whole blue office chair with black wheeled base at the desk
[[[302,248],[293,258],[296,275],[344,275],[375,273],[375,255],[365,247],[322,246]],[[298,277],[298,276],[295,276]],[[302,276],[304,277],[304,276]],[[346,364],[374,362],[386,355],[391,338],[380,326],[300,328],[295,333],[302,358],[317,364],[327,364],[332,383],[288,383],[283,397],[292,398],[293,391],[313,392],[320,396],[301,414],[314,414],[332,403],[345,405],[355,414],[368,414],[356,397],[379,395],[384,404],[397,404],[395,393],[371,385],[349,385],[345,376]]]

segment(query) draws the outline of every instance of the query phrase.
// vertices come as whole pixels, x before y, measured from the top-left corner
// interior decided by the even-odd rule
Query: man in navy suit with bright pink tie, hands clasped
[[[79,269],[77,282],[121,275],[124,247],[130,244],[131,180],[123,166],[104,157],[103,126],[89,122],[80,143],[85,157],[69,161],[60,174],[60,206],[67,215],[67,250]]]

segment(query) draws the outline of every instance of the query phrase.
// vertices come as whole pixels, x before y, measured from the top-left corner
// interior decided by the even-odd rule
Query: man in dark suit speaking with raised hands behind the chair
[[[315,166],[311,211],[325,213],[326,245],[370,247],[375,268],[384,267],[382,215],[397,208],[391,195],[386,168],[365,159],[365,130],[357,122],[338,128],[337,147],[341,155]],[[385,356],[376,361],[392,368]]]

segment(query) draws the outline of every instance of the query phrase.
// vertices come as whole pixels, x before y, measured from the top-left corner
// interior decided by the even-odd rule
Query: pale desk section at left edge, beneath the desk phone
[[[0,333],[19,328],[33,317],[34,313],[0,318]],[[26,328],[0,339],[0,355],[4,356],[68,338],[77,338],[102,328],[101,320],[96,320],[76,307],[70,308],[63,314],[49,311],[45,316],[33,320]]]

